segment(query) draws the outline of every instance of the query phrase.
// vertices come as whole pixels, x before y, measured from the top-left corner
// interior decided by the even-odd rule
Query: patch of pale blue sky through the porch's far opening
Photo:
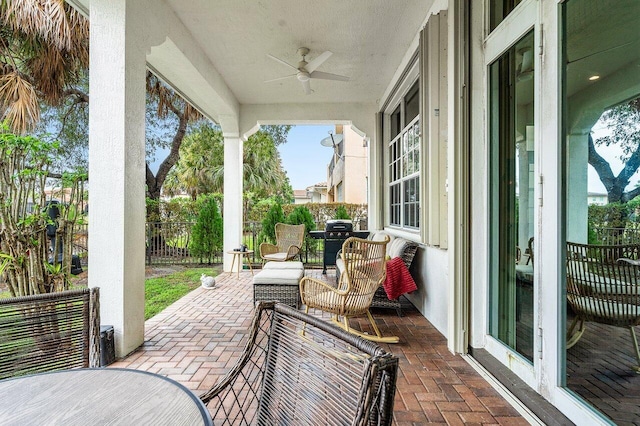
[[[289,132],[287,143],[278,147],[282,167],[293,189],[306,189],[327,181],[327,165],[333,149],[320,145],[320,141],[334,129],[335,126],[295,126]]]

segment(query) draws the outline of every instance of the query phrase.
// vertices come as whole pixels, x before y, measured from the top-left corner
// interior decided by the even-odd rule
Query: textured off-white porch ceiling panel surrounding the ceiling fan
[[[371,103],[390,84],[434,0],[166,0],[240,104]],[[265,83],[333,52],[318,71],[350,81],[311,80],[305,95],[295,78]]]

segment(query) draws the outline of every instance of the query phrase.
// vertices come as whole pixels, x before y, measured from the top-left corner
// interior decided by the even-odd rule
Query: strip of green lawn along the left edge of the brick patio
[[[189,268],[159,278],[145,280],[144,319],[148,320],[185,294],[200,287],[200,276],[216,276],[220,266]]]

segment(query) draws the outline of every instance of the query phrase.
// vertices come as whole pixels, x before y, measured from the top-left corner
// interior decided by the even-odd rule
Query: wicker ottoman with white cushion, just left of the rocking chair
[[[253,303],[277,300],[300,308],[300,280],[303,276],[302,262],[267,262],[253,277]]]

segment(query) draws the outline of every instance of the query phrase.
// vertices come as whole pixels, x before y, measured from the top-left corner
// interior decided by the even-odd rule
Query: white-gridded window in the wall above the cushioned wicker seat
[[[420,228],[420,119],[418,83],[391,114],[389,224]]]

